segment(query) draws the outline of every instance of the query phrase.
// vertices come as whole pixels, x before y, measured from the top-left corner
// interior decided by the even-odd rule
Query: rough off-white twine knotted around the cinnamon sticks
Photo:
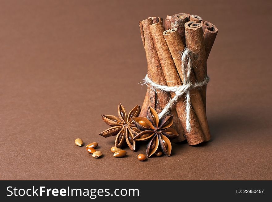
[[[184,78],[184,82],[181,86],[164,86],[159,85],[153,82],[148,76],[146,75],[143,79],[144,83],[151,88],[156,90],[161,90],[164,92],[173,92],[176,95],[167,103],[164,109],[159,113],[159,119],[166,116],[168,112],[172,109],[172,107],[176,104],[177,100],[184,94],[186,94],[186,130],[188,132],[191,131],[191,124],[190,124],[190,111],[191,111],[191,99],[190,99],[190,90],[194,88],[200,88],[202,86],[207,85],[210,78],[206,76],[206,78],[202,82],[195,82],[192,83],[190,81],[190,76],[192,72],[192,59],[190,56],[190,51],[188,48],[185,48],[181,55],[181,70]]]

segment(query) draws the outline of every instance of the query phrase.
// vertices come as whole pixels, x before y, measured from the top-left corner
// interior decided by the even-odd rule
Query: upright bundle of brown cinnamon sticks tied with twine
[[[147,58],[147,75],[155,83],[180,86],[184,82],[181,71],[181,54],[185,48],[191,52],[193,72],[191,82],[202,82],[207,76],[206,61],[214,44],[218,29],[198,15],[179,13],[164,20],[150,17],[139,22],[143,46]],[[147,116],[148,106],[159,113],[175,93],[154,91],[150,87],[142,104],[140,116]],[[186,97],[178,99],[171,114],[173,128],[180,134],[174,142],[185,139],[189,145],[210,140],[206,117],[206,86],[190,91],[191,108],[189,116],[191,131],[186,130]]]

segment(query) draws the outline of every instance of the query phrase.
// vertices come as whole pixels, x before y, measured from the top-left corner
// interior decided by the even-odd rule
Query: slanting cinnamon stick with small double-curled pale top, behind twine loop
[[[174,63],[176,65],[177,71],[180,75],[181,81],[184,83],[183,73],[181,69],[181,53],[184,50],[184,45],[182,43],[181,37],[177,32],[177,29],[167,30],[163,33],[164,39],[168,45]],[[190,80],[194,83],[196,82],[193,72],[191,73]],[[210,140],[210,129],[207,121],[206,110],[202,101],[200,91],[198,89],[192,89],[190,92],[191,105],[193,111],[195,112],[198,122],[201,126],[202,132],[205,137],[205,141]]]

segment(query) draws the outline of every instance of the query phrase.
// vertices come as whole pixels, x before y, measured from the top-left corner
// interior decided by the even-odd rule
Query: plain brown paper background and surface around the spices
[[[0,179],[272,179],[270,1],[1,1]],[[219,33],[208,60],[212,140],[171,157],[114,158],[101,114],[142,104],[138,22],[196,14]],[[74,144],[97,141],[94,159]]]

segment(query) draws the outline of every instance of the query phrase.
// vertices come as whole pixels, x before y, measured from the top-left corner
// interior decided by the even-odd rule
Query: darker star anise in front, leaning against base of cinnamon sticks
[[[168,115],[159,119],[158,113],[152,107],[149,107],[147,113],[147,118],[132,118],[136,127],[142,131],[138,133],[133,140],[149,140],[146,149],[148,157],[154,154],[158,148],[160,148],[166,156],[170,156],[172,145],[168,138],[173,139],[179,135],[175,129],[169,128],[173,124],[173,116]]]

